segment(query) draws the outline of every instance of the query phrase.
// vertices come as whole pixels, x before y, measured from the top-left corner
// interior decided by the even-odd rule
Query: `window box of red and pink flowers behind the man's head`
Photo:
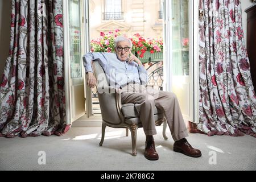
[[[110,31],[108,34],[100,33],[100,38],[90,42],[92,52],[115,52],[114,39],[121,35],[120,30]],[[162,39],[144,39],[141,35],[135,34],[129,38],[133,43],[135,56],[139,57],[143,64],[151,61],[163,61],[163,40]]]

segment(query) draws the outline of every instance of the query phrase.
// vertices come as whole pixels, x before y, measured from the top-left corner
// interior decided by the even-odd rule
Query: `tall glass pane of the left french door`
[[[80,0],[69,0],[69,42],[71,78],[82,77],[80,30]]]

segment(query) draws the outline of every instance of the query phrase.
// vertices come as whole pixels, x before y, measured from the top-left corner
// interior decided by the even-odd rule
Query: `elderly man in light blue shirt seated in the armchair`
[[[96,86],[91,61],[98,60],[110,81],[110,86],[121,88],[122,104],[135,104],[146,134],[144,151],[146,159],[159,159],[153,138],[153,135],[156,134],[154,106],[164,111],[172,138],[175,141],[174,151],[194,158],[200,157],[201,151],[193,148],[185,139],[188,137],[188,133],[175,94],[145,86],[147,71],[141,61],[131,53],[132,43],[129,39],[119,36],[115,39],[114,44],[115,53],[96,52],[86,53],[84,56],[88,86],[90,88]]]

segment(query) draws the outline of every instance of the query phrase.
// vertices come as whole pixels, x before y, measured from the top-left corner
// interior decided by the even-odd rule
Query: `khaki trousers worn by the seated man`
[[[146,135],[156,134],[154,119],[154,106],[156,106],[164,111],[174,141],[188,137],[179,102],[174,93],[139,84],[124,86],[121,93],[122,104],[135,104]]]

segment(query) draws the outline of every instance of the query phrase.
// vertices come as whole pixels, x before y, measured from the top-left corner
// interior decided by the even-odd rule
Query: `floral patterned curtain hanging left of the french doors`
[[[62,0],[12,0],[10,52],[0,87],[0,135],[62,135]]]

